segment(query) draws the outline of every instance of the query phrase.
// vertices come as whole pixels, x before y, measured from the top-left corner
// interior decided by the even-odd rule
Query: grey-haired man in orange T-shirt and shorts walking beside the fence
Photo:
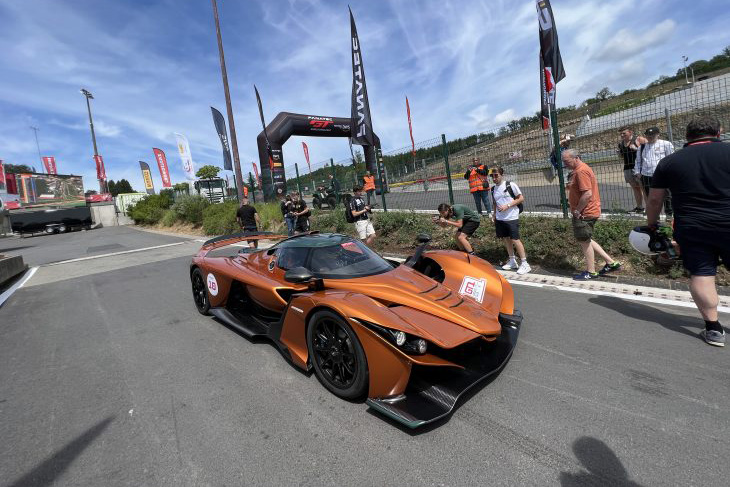
[[[592,240],[593,227],[601,216],[601,196],[598,194],[598,182],[588,164],[581,161],[580,154],[575,149],[566,149],[562,154],[563,165],[572,172],[568,177],[568,203],[573,217],[573,235],[583,250],[586,259],[586,271],[573,276],[576,281],[588,281],[618,270],[620,262],[616,262],[610,255]],[[595,254],[606,261],[606,265],[596,272]]]

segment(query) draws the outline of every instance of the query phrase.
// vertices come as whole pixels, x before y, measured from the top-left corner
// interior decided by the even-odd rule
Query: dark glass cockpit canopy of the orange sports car
[[[351,279],[393,270],[385,259],[345,235],[315,234],[277,245],[277,265],[284,270],[305,267],[321,279]]]

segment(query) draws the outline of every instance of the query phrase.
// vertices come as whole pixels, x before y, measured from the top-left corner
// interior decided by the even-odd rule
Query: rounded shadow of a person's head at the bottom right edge
[[[585,485],[612,485],[636,487],[621,460],[601,440],[582,436],[573,442],[573,453],[586,471],[579,473],[561,472],[562,487]]]

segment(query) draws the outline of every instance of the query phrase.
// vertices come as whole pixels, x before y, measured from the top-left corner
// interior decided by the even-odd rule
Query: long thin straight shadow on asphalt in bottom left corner
[[[53,484],[113,420],[114,416],[109,416],[87,429],[8,487],[43,487]]]

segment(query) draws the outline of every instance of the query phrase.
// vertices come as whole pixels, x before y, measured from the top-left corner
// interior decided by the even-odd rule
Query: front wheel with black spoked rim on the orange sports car
[[[332,311],[317,311],[309,319],[307,349],[317,379],[334,395],[359,399],[368,389],[365,351],[352,327]]]

